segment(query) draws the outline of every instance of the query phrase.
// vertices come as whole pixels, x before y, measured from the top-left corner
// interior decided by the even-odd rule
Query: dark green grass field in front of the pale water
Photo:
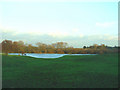
[[[3,88],[117,88],[118,55],[2,57]]]

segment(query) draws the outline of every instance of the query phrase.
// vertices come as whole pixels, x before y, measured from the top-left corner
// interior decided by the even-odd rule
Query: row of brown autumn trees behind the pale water
[[[2,48],[2,49],[1,49]],[[0,43],[2,53],[58,53],[58,54],[103,54],[118,52],[117,46],[109,47],[104,44],[83,46],[83,48],[70,47],[66,42],[56,42],[52,44],[36,43],[24,44],[23,41],[3,40]]]

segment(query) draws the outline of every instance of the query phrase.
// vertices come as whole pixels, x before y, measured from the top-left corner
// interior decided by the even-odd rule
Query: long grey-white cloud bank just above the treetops
[[[17,34],[16,34],[17,33]],[[68,33],[61,32],[51,32],[46,34],[30,34],[30,33],[18,33],[15,31],[5,31],[0,33],[2,34],[2,40],[8,39],[12,41],[22,40],[25,43],[33,44],[37,42],[42,42],[46,44],[51,44],[58,41],[67,42],[70,46],[74,47],[83,47],[84,45],[90,46],[93,44],[105,44],[115,46],[118,45],[118,36],[114,35],[90,35],[90,36],[72,36]]]

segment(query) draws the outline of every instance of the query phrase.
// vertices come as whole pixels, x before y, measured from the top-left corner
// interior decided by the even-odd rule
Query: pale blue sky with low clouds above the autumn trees
[[[117,0],[1,0],[0,42],[118,46]]]

